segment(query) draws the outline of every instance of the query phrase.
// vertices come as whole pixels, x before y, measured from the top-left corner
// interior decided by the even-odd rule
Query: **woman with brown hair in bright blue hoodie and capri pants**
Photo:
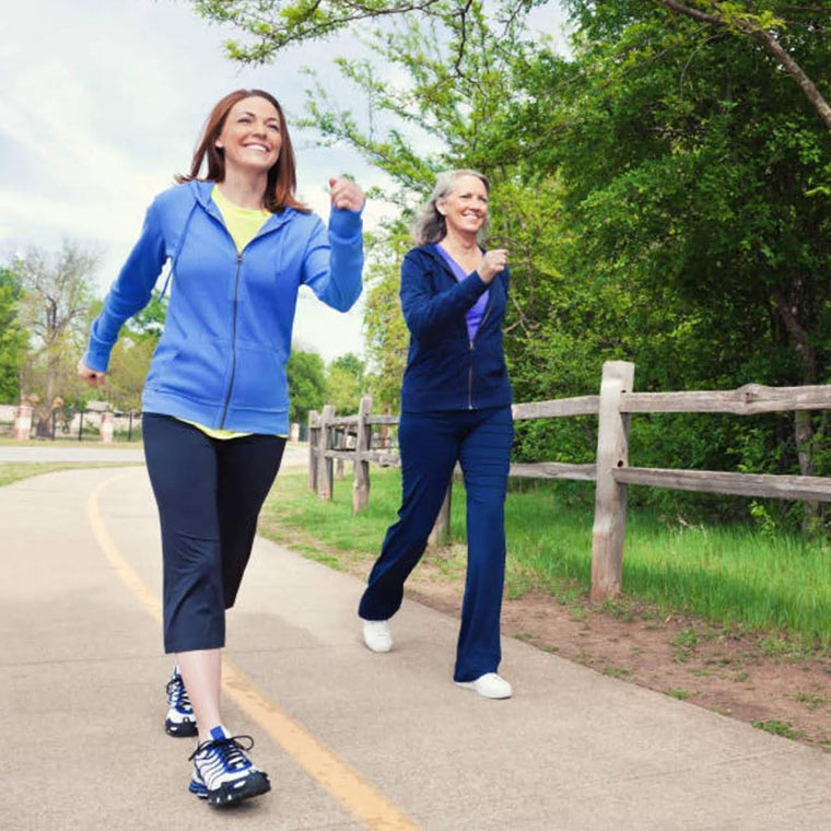
[[[341,312],[358,300],[364,196],[349,179],[330,179],[327,232],[295,198],[285,118],[261,90],[238,90],[214,106],[190,173],[177,180],[150,206],[78,368],[103,383],[121,324],[147,305],[169,260],[167,319],[142,396],[162,528],[164,646],[176,655],[165,727],[198,735],[189,789],[225,806],[270,785],[246,756],[250,737],[222,723],[224,611],[289,430],[297,290],[308,285]]]

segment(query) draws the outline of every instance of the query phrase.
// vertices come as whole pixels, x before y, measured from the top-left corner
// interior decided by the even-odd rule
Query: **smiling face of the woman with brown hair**
[[[268,173],[280,157],[280,115],[259,95],[243,98],[231,107],[214,144],[224,154],[226,176]]]

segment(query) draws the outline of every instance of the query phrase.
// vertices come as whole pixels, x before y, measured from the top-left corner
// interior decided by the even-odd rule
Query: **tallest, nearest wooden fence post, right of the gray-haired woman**
[[[597,420],[597,490],[592,531],[592,600],[620,594],[623,583],[623,537],[627,527],[627,485],[611,475],[629,465],[630,417],[619,410],[620,397],[631,393],[635,365],[606,361]]]

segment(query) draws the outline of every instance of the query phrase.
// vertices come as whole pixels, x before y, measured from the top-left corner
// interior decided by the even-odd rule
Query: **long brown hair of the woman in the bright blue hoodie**
[[[255,96],[265,98],[273,105],[280,118],[280,136],[282,138],[280,155],[268,172],[266,192],[262,195],[262,206],[266,210],[271,211],[272,213],[282,211],[283,208],[286,207],[308,212],[309,209],[302,202],[299,202],[294,196],[294,190],[297,186],[294,172],[294,151],[292,150],[292,142],[289,138],[289,128],[285,125],[283,109],[273,95],[270,95],[262,90],[235,90],[215,104],[211,114],[208,116],[208,120],[204,122],[202,137],[194,151],[194,160],[190,163],[190,173],[177,175],[176,182],[223,182],[225,179],[225,154],[216,147],[216,139],[220,137],[222,128],[225,126],[225,119],[227,118],[231,108],[244,98]],[[203,177],[200,177],[199,171],[202,167],[206,156],[208,157],[208,171]]]

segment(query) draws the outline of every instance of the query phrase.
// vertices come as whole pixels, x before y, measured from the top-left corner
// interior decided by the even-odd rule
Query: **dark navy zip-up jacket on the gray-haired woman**
[[[507,269],[490,283],[477,271],[457,281],[432,245],[407,254],[401,264],[401,308],[411,337],[402,410],[475,410],[511,403],[502,348],[507,286]],[[471,340],[465,315],[488,289],[488,305]]]

